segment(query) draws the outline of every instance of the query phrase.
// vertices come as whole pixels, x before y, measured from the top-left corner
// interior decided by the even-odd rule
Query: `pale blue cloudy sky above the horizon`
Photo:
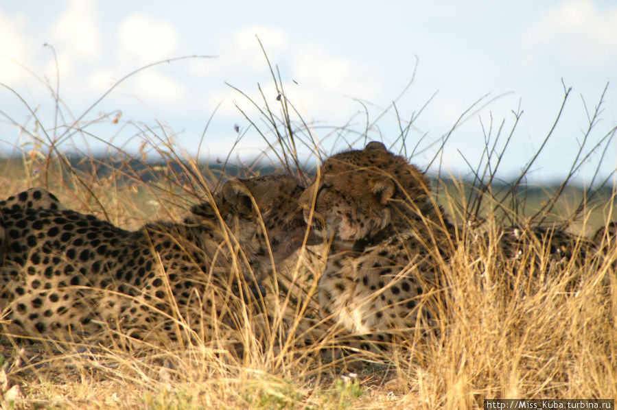
[[[512,110],[519,106],[524,113],[500,175],[508,178],[520,171],[557,117],[563,99],[561,79],[572,93],[553,137],[532,168],[533,178],[563,178],[588,125],[583,101],[593,110],[607,82],[611,84],[601,121],[587,144],[593,145],[617,124],[617,4],[599,0],[314,1],[310,5],[0,0],[0,83],[37,107],[45,128],[52,128],[54,99],[43,82],[56,83],[56,66],[51,49],[43,43],[56,50],[60,97],[75,117],[117,80],[145,64],[178,56],[216,56],[162,64],[130,77],[86,117],[119,110],[120,121],[88,129],[106,141],[138,149],[141,137],[132,124],[156,126],[158,121],[194,155],[218,106],[200,156],[224,158],[238,125],[246,134],[232,158],[248,160],[264,143],[236,105],[254,121],[260,121],[259,114],[225,82],[254,98],[259,83],[268,104],[276,104],[255,35],[278,65],[290,101],[304,119],[317,121],[312,132],[325,152],[345,147],[331,136],[331,128],[353,118],[349,127],[361,132],[366,125],[364,106],[371,122],[391,104],[411,80],[416,58],[414,82],[397,101],[397,109],[409,119],[434,95],[407,139],[408,152],[418,141],[426,148],[412,158],[421,166],[434,156],[438,146],[434,143],[484,95],[484,101],[491,103],[472,110],[445,145],[440,157],[444,171],[467,173],[464,158],[477,164],[482,156],[482,126],[488,128],[492,118],[494,134],[504,121],[505,136],[513,125]],[[27,123],[27,109],[7,88],[0,89],[0,110],[16,123]],[[4,150],[27,143],[5,119],[0,132]],[[395,143],[398,133],[391,110],[369,130],[369,137]],[[65,144],[79,146],[80,141]],[[94,138],[86,142],[93,149],[104,147]],[[603,175],[616,169],[616,154],[612,143]],[[579,178],[590,178],[598,158],[591,158]]]

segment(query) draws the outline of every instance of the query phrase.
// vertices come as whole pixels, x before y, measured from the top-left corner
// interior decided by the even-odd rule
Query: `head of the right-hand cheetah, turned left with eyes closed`
[[[341,249],[417,219],[429,199],[429,182],[405,158],[379,142],[323,162],[300,197],[304,218]]]

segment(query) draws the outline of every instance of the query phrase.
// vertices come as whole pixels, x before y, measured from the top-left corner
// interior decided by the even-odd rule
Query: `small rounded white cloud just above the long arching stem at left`
[[[178,33],[172,23],[134,14],[120,25],[118,41],[119,57],[135,67],[135,62],[148,64],[176,57]]]

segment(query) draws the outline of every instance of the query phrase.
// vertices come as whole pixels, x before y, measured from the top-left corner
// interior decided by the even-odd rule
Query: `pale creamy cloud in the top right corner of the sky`
[[[575,67],[617,67],[617,7],[599,10],[590,0],[561,3],[526,30],[527,64],[547,54]]]

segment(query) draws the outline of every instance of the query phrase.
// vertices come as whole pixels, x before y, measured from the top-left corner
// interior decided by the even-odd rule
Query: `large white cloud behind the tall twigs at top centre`
[[[276,27],[240,27],[230,36],[231,41],[220,45],[219,58],[203,64],[205,69],[201,73],[196,69],[191,69],[191,73],[199,76],[200,82],[206,81],[206,76],[219,84],[228,81],[264,106],[257,91],[259,82],[270,109],[278,110],[277,93],[255,35],[259,36],[270,62],[279,67],[286,96],[307,120],[346,121],[360,108],[352,97],[380,102],[375,101],[380,97],[377,92],[380,87],[370,64],[334,56],[327,47],[296,41]],[[259,116],[250,101],[223,84],[211,89],[200,106],[213,110],[222,103],[217,117],[241,121],[242,114],[234,101],[252,119]]]

